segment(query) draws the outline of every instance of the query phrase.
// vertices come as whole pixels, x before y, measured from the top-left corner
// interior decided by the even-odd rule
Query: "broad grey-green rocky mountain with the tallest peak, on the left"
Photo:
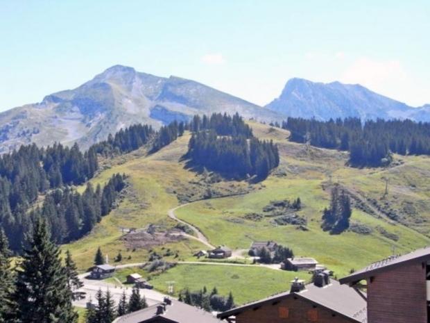
[[[0,113],[0,152],[21,144],[46,146],[54,141],[78,142],[87,148],[131,124],[158,128],[173,119],[186,121],[196,114],[214,112],[239,113],[267,122],[277,118],[273,111],[203,83],[114,65],[77,88]]]

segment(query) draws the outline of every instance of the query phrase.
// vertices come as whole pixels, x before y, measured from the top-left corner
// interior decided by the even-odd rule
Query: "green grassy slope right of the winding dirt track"
[[[424,199],[428,194],[427,184],[422,183],[414,189],[408,186],[411,183],[402,183],[407,178],[418,186],[416,180],[420,172],[430,171],[424,162],[428,158],[403,158],[403,165],[391,169],[354,169],[345,166],[347,156],[344,153],[287,142],[289,133],[281,129],[255,123],[252,128],[257,137],[276,141],[282,154],[279,169],[264,181],[264,187],[239,197],[196,202],[177,211],[178,217],[198,226],[212,243],[236,249],[249,247],[253,240],[276,240],[292,247],[296,256],[317,258],[338,275],[389,256],[393,246],[401,253],[429,244],[426,235],[413,230],[425,231],[427,222],[409,229],[384,215],[370,215],[357,208],[353,210],[352,222],[370,227],[372,233],[363,235],[347,231],[329,235],[320,229],[322,210],[329,206],[329,190],[324,188],[329,186],[330,177],[332,183],[340,183],[360,196],[377,199],[378,204],[383,204],[385,201],[380,198],[384,194],[385,182],[381,177],[388,176],[390,185],[386,201],[390,207],[397,208],[404,201],[415,205],[418,199]],[[397,168],[406,168],[409,174]],[[304,204],[299,215],[307,218],[308,231],[295,226],[276,226],[268,218],[261,221],[244,218],[247,213],[261,212],[272,200],[296,197],[300,197]],[[423,219],[430,216],[428,210],[427,214],[420,215]],[[411,221],[411,217],[405,219]],[[394,233],[398,240],[386,238],[387,233]]]

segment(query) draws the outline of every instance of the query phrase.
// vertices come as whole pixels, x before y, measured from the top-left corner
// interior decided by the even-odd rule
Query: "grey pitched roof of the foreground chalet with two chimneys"
[[[312,304],[322,306],[328,310],[332,310],[338,315],[347,317],[352,322],[367,322],[365,300],[353,288],[347,285],[341,285],[334,279],[331,280],[329,285],[322,288],[311,283],[306,285],[306,289],[301,292],[282,292],[266,299],[227,310],[224,313],[218,314],[218,317],[225,319],[230,316],[238,315],[248,308],[256,308],[263,304],[273,303],[273,301],[280,301],[288,297],[300,297],[310,301]]]

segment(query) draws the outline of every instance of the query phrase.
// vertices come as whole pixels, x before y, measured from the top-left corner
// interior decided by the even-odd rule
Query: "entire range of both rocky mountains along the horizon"
[[[288,116],[430,121],[430,105],[412,108],[361,85],[292,78],[277,99],[261,107],[196,81],[114,65],[74,90],[0,113],[0,153],[32,142],[40,146],[77,142],[87,148],[130,124],[158,128],[175,119],[210,113],[239,113],[263,122]]]

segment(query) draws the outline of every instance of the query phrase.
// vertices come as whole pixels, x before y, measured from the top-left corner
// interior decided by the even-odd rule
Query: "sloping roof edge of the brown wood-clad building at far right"
[[[354,283],[356,281],[361,281],[361,279],[366,279],[369,276],[377,274],[378,272],[383,272],[385,270],[390,270],[393,267],[402,266],[406,263],[428,261],[430,260],[430,247],[425,247],[412,251],[409,254],[404,254],[402,256],[391,256],[386,259],[372,263],[367,267],[346,276],[339,281],[341,283]]]

